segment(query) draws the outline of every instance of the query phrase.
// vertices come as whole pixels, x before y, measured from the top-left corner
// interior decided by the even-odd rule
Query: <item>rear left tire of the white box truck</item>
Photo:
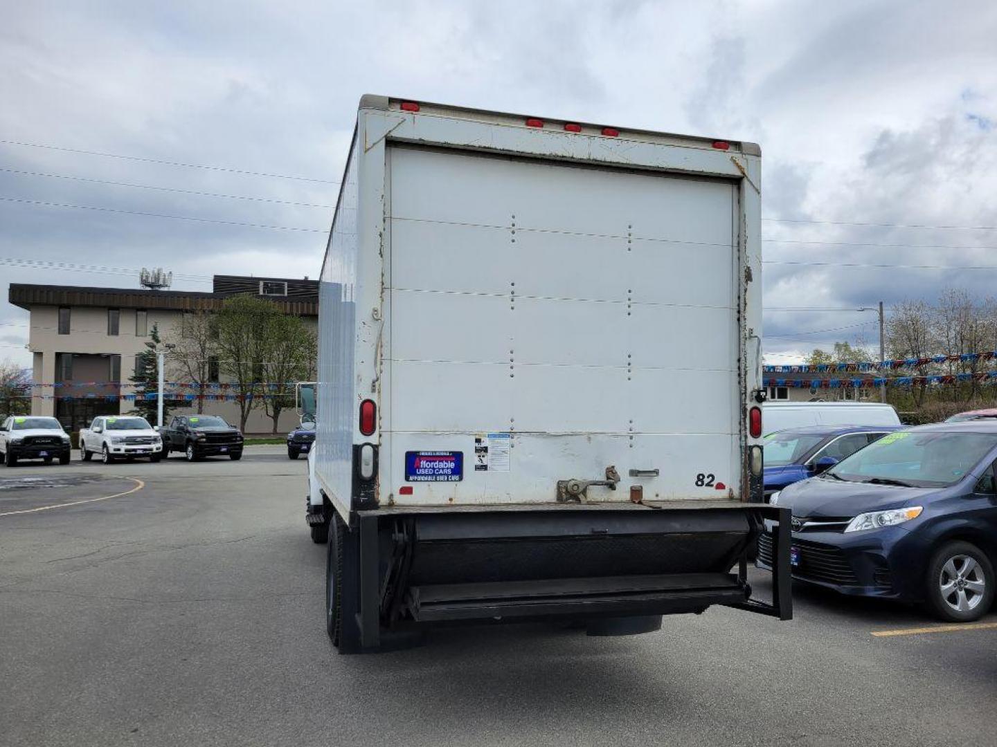
[[[359,547],[355,533],[343,524],[335,511],[332,512],[331,530],[325,564],[325,629],[340,653],[358,653]]]

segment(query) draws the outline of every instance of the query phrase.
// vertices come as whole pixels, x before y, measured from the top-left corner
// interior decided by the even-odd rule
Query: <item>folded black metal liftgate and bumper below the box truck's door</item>
[[[363,644],[413,625],[585,621],[713,605],[792,617],[788,539],[773,570],[773,602],[752,599],[747,582],[748,548],[763,520],[781,521],[788,538],[788,510],[730,502],[516,508],[354,513]]]

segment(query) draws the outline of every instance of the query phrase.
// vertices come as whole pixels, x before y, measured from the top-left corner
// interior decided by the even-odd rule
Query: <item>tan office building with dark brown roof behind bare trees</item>
[[[134,398],[129,398],[135,393],[130,378],[137,356],[148,351],[153,326],[158,325],[161,338],[168,341],[175,338],[184,313],[217,311],[226,298],[244,294],[273,301],[284,312],[317,325],[318,281],[307,278],[215,275],[211,293],[11,284],[10,302],[31,315],[32,414],[55,415],[77,430],[96,415],[127,413],[135,406]],[[181,378],[167,364],[166,379]],[[216,383],[206,390],[223,395],[224,379]],[[183,389],[191,390],[196,389]],[[238,403],[215,396],[204,400],[204,412],[237,424]],[[194,409],[170,404],[172,413]],[[297,421],[293,410],[282,412],[278,432],[286,432]],[[273,421],[260,408],[250,414],[246,432],[267,433],[272,427]]]

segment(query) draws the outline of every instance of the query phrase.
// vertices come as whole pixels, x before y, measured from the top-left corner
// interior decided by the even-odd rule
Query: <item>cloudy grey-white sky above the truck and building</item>
[[[760,142],[770,361],[876,340],[840,307],[997,295],[992,0],[0,10],[0,360],[9,282],[315,277],[364,93]]]

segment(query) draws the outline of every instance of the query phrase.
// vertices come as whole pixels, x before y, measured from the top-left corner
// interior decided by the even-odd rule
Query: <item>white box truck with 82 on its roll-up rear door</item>
[[[361,99],[307,519],[342,652],[460,622],[791,617],[762,501],[760,149]],[[777,522],[770,602],[747,555]]]

